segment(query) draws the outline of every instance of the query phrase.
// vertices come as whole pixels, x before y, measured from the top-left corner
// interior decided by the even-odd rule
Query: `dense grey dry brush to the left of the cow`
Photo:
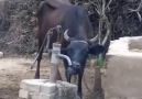
[[[36,0],[0,2],[0,46],[9,53],[32,53],[36,47]]]

